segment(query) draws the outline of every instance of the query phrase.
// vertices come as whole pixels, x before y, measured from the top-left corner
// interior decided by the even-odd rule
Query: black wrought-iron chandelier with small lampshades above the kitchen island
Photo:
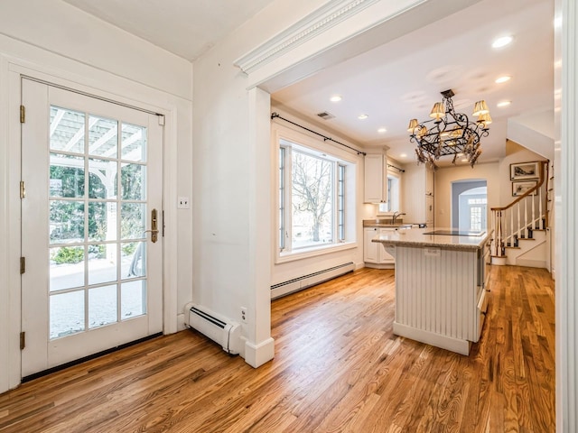
[[[407,127],[410,142],[417,145],[415,154],[418,163],[427,163],[433,170],[437,170],[435,161],[447,155],[453,155],[453,164],[461,157],[473,168],[481,153],[480,138],[489,135],[491,117],[486,101],[476,102],[473,116],[478,116],[478,120],[474,123],[468,120],[467,115],[455,112],[452,102],[454,95],[452,89],[443,91],[443,100],[433,106],[431,119],[421,123],[412,119]],[[430,122],[433,124],[428,128]]]

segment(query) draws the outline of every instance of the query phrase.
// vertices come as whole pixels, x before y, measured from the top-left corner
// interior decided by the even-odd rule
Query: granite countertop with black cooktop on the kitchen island
[[[434,231],[452,231],[455,228],[412,228],[411,230],[396,230],[384,235],[378,235],[372,242],[390,245],[446,248],[451,250],[477,250],[488,242],[492,231],[481,235],[430,235]]]

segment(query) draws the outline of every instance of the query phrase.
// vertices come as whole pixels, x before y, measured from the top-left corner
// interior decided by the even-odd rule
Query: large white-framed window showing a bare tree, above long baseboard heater
[[[279,143],[280,255],[346,242],[351,163],[285,139]]]

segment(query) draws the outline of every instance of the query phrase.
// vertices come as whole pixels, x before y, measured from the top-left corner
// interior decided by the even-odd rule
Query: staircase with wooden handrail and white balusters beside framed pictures
[[[546,268],[550,266],[549,222],[553,177],[550,161],[540,164],[534,188],[505,207],[491,207],[494,237],[491,263]]]

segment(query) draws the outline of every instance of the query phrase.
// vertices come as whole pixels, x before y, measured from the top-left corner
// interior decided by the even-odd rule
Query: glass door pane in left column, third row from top
[[[84,241],[84,202],[51,200],[51,244]]]

